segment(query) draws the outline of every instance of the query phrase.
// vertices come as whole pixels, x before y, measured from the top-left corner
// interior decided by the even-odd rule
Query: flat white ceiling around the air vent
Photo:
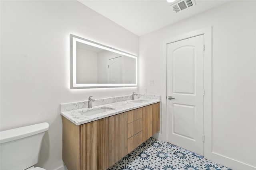
[[[195,0],[192,6],[178,13],[166,0],[78,0],[132,33],[141,36],[224,4],[229,0]],[[176,0],[177,2],[179,0]]]

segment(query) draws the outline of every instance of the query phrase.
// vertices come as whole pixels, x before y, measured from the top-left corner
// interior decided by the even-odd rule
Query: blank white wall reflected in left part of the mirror
[[[98,54],[76,47],[76,83],[95,84],[98,81]]]

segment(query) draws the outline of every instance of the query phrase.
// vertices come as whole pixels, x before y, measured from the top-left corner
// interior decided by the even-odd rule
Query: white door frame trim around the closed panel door
[[[166,118],[167,118],[167,44],[198,35],[204,35],[204,157],[213,160],[212,152],[212,26],[184,33],[166,39],[163,45],[164,58],[166,60]],[[203,48],[203,47],[202,47]],[[167,119],[166,139],[167,139]]]

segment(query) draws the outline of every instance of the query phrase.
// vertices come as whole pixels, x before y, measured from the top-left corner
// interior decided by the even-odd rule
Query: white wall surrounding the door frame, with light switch
[[[180,13],[181,14],[181,13]],[[179,15],[179,14],[177,14]],[[232,1],[140,37],[140,92],[162,97],[166,141],[166,39],[212,25],[212,152],[256,167],[256,1]],[[149,80],[155,80],[149,86]],[[213,160],[214,161],[214,160]],[[218,162],[240,169],[228,162]],[[248,164],[248,166],[246,165]],[[250,165],[250,166],[249,166]],[[253,168],[253,169],[254,169]]]

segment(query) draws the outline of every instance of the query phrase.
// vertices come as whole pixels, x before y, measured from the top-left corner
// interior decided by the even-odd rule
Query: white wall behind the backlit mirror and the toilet
[[[62,162],[60,104],[137,88],[70,90],[70,33],[138,55],[138,37],[77,1],[1,1],[0,130],[48,122],[38,166]]]

